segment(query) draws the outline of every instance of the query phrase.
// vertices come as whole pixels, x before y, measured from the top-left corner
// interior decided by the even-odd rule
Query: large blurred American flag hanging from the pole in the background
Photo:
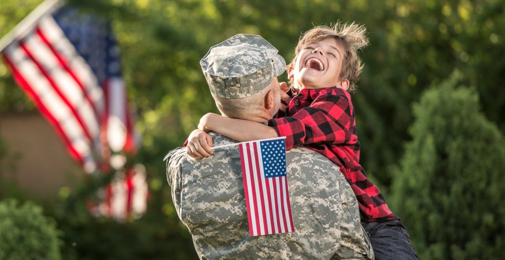
[[[110,23],[48,0],[0,40],[0,51],[15,81],[85,172],[129,176],[122,180],[129,191],[111,185],[104,198],[126,202],[106,203],[102,212],[124,219],[135,200],[134,185],[144,188],[131,180],[145,172],[124,167],[125,154],[135,153],[136,134]],[[112,162],[118,156],[124,160]]]

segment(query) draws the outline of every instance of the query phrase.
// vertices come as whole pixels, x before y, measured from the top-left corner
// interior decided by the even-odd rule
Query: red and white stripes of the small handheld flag
[[[292,232],[285,168],[283,176],[265,176],[260,141],[239,144],[249,233],[258,236]]]

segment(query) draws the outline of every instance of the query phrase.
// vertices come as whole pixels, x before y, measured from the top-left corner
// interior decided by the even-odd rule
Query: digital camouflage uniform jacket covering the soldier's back
[[[211,134],[215,146],[235,142]],[[190,158],[184,148],[167,158],[172,199],[200,259],[373,259],[354,193],[319,153],[286,152],[295,232],[255,237],[249,236],[238,145],[206,159]]]

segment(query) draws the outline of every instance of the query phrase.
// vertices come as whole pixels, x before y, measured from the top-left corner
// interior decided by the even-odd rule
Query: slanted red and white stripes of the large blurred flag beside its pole
[[[56,49],[62,46],[66,51],[58,54]],[[83,60],[68,65],[76,60],[77,51],[53,17],[40,19],[31,32],[12,42],[3,54],[17,83],[51,122],[72,157],[86,172],[95,171],[102,147],[98,113],[101,110],[103,114],[103,91],[99,85],[89,84],[93,77]],[[86,89],[81,82],[87,83]]]

